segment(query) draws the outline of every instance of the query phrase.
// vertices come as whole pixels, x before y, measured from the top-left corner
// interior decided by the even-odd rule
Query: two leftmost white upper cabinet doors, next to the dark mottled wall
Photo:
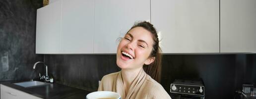
[[[37,11],[36,53],[93,53],[94,0],[56,0]]]

